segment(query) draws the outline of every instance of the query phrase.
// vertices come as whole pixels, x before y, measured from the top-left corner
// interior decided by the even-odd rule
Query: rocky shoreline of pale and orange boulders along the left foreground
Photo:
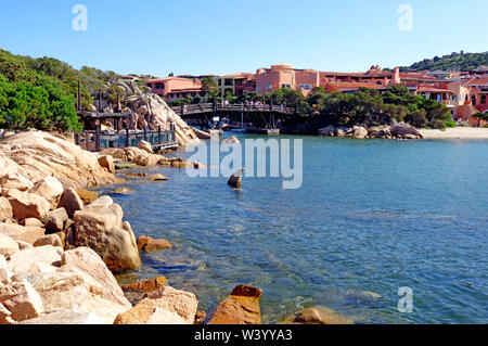
[[[114,273],[141,266],[140,253],[172,245],[136,238],[121,207],[85,188],[123,183],[116,168],[193,167],[151,148],[89,153],[59,134],[25,131],[0,148],[0,324],[260,324],[261,290],[237,285],[210,317],[193,293],[158,277],[120,286]],[[129,176],[130,172],[127,172]],[[136,174],[132,174],[138,176]],[[168,180],[162,175],[149,181]],[[308,311],[308,310],[307,310]],[[299,311],[290,322],[344,322]]]

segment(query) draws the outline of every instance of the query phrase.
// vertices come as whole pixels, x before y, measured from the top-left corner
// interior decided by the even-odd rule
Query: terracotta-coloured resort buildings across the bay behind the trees
[[[328,92],[356,92],[361,88],[385,92],[396,85],[407,87],[413,94],[422,95],[445,104],[454,120],[479,125],[473,114],[488,112],[488,68],[480,67],[470,72],[400,72],[382,69],[373,65],[364,73],[318,72],[298,69],[280,63],[270,68],[258,68],[255,74],[235,73],[227,76],[179,76],[150,79],[146,86],[154,93],[175,102],[188,97],[206,100],[202,79],[217,81],[220,97],[228,94],[242,97],[248,92],[264,95],[274,90],[288,88],[307,97],[317,87]]]

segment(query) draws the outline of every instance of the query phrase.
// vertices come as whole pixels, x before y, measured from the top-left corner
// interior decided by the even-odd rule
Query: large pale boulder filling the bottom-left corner
[[[27,248],[7,261],[0,256],[0,324],[112,324],[131,308],[100,256],[86,247]]]

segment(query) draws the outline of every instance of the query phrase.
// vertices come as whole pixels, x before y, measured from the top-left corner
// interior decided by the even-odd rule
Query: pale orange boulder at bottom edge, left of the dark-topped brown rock
[[[193,293],[165,286],[117,316],[114,324],[193,324],[197,306]]]

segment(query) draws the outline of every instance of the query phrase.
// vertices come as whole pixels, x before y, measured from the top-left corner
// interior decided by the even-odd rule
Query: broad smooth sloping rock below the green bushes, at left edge
[[[116,177],[100,166],[95,153],[60,134],[30,130],[10,136],[4,142],[11,149],[0,151],[0,167],[5,174],[17,174],[33,182],[54,176],[64,185],[76,188],[115,181]]]

